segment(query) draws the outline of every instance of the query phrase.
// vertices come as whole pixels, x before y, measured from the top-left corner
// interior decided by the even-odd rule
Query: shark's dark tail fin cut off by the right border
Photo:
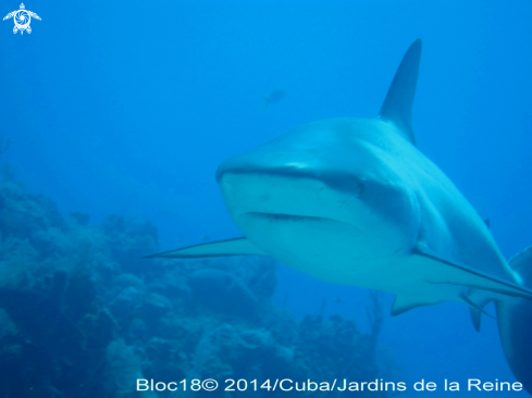
[[[525,287],[532,287],[532,246],[510,260]],[[509,298],[498,301],[497,316],[506,360],[516,378],[532,395],[532,301]]]

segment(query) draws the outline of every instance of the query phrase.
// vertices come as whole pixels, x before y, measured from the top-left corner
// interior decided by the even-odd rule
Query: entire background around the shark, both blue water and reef
[[[218,165],[374,116],[417,38],[419,149],[507,258],[532,245],[530,1],[25,5],[30,35],[0,24],[0,396],[136,396],[139,375],[515,380],[496,321],[477,333],[458,303],[391,318],[392,296],[273,261],[140,258],[239,236]]]

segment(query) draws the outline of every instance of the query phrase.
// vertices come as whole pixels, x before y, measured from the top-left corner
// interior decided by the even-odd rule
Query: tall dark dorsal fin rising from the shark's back
[[[379,113],[379,117],[388,120],[399,127],[405,138],[413,145],[416,138],[412,130],[412,103],[418,85],[421,47],[421,39],[417,39],[403,57]]]

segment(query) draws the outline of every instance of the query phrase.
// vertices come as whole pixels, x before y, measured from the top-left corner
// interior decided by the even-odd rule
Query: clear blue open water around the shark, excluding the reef
[[[30,35],[0,24],[0,135],[13,141],[1,162],[63,214],[135,214],[161,250],[238,236],[218,165],[307,122],[374,116],[422,38],[420,150],[491,220],[506,257],[532,244],[529,1],[25,5],[42,18]],[[286,97],[263,110],[275,89]],[[367,290],[277,273],[274,302],[297,316],[366,320]],[[496,321],[483,321],[478,334],[465,306],[417,309],[386,318],[380,347],[408,383],[514,381]]]

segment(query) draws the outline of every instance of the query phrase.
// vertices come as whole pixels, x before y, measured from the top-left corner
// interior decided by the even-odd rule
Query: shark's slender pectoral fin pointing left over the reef
[[[218,240],[208,244],[184,247],[177,250],[146,256],[145,259],[161,258],[201,258],[223,256],[268,256],[247,238]]]

